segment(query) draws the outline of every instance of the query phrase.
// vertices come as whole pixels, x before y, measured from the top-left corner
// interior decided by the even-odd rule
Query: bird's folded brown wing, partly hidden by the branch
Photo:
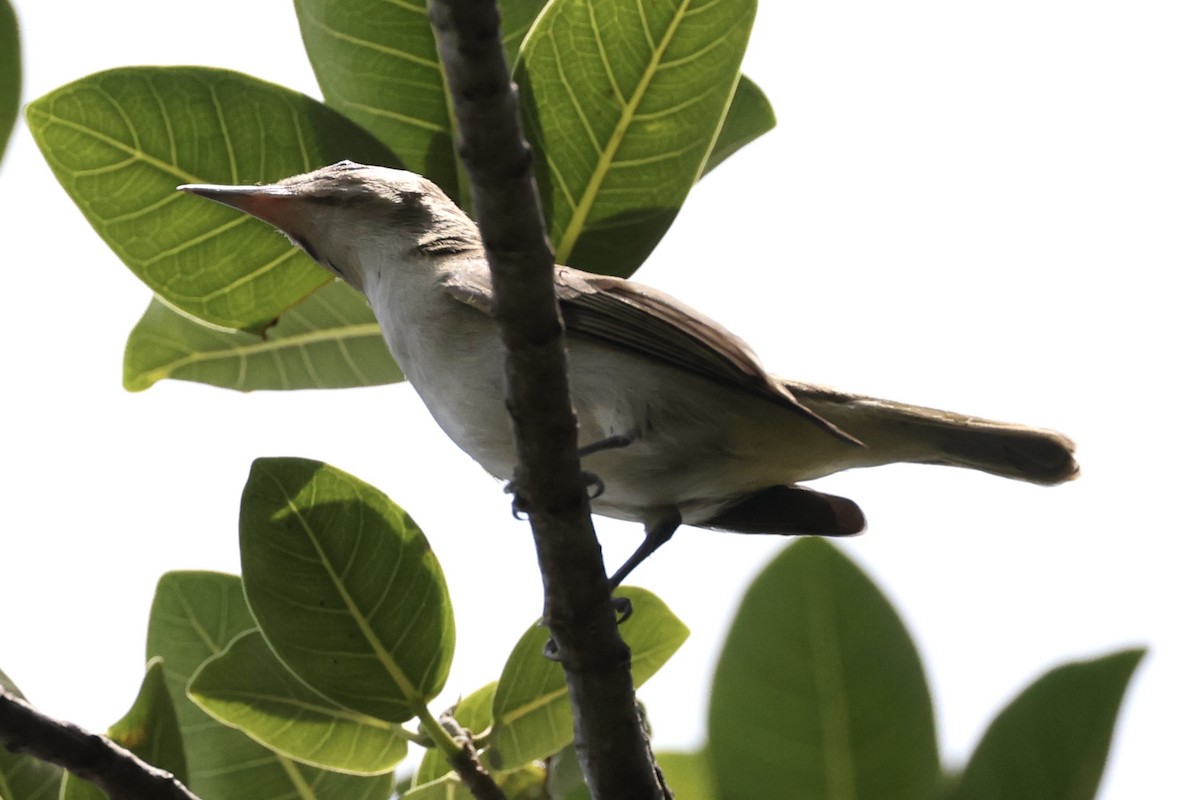
[[[446,275],[443,285],[456,300],[491,313],[492,281],[482,260]],[[839,439],[862,444],[799,402],[745,342],[667,294],[569,266],[554,267],[554,291],[571,336],[620,347],[758,395],[809,417]]]

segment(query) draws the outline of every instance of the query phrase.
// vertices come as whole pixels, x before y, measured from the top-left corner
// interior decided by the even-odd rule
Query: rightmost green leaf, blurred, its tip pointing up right
[[[1121,699],[1145,650],[1051,669],[991,723],[949,798],[1088,800],[1104,775]]]

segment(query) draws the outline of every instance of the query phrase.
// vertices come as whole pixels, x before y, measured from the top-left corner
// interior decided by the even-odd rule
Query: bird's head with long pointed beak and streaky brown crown
[[[402,269],[414,253],[481,247],[475,223],[437,185],[403,169],[341,161],[265,186],[179,188],[275,225],[360,291],[372,270]]]

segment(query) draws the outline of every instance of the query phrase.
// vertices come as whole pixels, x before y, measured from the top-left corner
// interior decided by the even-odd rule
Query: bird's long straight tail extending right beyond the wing
[[[977,469],[1043,486],[1079,474],[1074,443],[1061,433],[1021,425],[847,395],[788,381],[797,401],[860,440],[866,467],[894,462]]]

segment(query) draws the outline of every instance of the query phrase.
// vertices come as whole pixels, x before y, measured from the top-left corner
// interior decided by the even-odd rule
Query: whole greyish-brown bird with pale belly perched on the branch
[[[449,438],[509,480],[504,353],[474,221],[412,172],[342,161],[266,185],[179,187],[282,231],[362,293],[391,355]],[[848,536],[847,498],[799,486],[841,470],[942,464],[1052,486],[1074,479],[1054,431],[853,395],[769,373],[719,323],[648,285],[554,267],[592,510],[641,523],[616,587],[680,525]]]

